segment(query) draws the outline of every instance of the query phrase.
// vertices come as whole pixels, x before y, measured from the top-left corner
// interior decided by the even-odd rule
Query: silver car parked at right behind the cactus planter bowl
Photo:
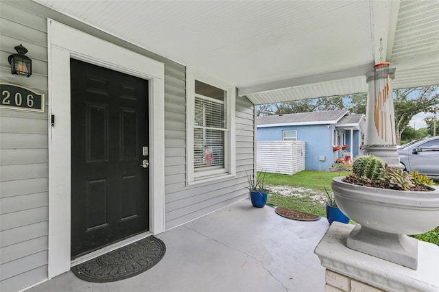
[[[401,145],[398,155],[405,170],[418,171],[439,179],[439,136]]]

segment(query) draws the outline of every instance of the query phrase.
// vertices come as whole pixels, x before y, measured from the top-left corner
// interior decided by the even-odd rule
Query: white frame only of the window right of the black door
[[[226,109],[226,130],[224,131],[224,168],[206,171],[194,169],[193,139],[195,116],[195,80],[215,86],[226,92],[224,108]],[[201,184],[213,180],[222,180],[236,174],[235,151],[235,99],[236,88],[222,80],[206,75],[201,71],[187,67],[186,69],[186,155],[187,185]]]

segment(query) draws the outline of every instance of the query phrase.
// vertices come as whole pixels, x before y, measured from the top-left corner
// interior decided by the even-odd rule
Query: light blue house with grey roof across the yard
[[[348,110],[257,117],[257,141],[305,141],[307,170],[329,171],[337,158],[353,160],[361,154],[364,129],[364,114]]]

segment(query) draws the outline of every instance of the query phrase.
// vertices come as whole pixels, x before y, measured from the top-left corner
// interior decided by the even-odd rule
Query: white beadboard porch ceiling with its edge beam
[[[215,75],[254,104],[367,91],[382,59],[393,88],[439,84],[439,1],[34,0]]]

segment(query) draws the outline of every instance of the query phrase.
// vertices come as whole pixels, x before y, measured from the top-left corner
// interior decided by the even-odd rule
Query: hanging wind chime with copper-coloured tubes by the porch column
[[[373,76],[374,76],[374,84],[375,84],[375,127],[377,129],[378,136],[385,141],[387,141],[388,134],[392,137],[392,145],[394,145],[394,125],[392,117],[392,101],[389,100],[392,98],[390,92],[390,75],[389,68],[390,62],[384,62],[382,59],[382,41],[380,38],[380,59],[379,63],[373,66]],[[388,129],[390,129],[390,133],[388,133]]]

